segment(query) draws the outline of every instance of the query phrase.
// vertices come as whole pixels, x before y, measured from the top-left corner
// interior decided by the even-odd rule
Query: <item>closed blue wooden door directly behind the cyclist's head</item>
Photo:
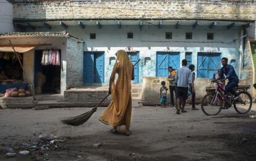
[[[197,77],[212,78],[213,73],[221,67],[220,53],[205,53],[197,54]]]

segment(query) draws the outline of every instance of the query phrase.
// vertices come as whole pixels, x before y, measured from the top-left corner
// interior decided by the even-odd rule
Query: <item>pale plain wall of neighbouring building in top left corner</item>
[[[12,10],[11,3],[6,0],[0,0],[0,33],[14,31]]]

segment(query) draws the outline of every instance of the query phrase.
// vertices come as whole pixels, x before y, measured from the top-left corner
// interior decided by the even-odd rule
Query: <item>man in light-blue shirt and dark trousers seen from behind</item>
[[[187,60],[182,60],[182,67],[177,69],[175,81],[177,83],[176,94],[177,94],[177,111],[176,114],[180,114],[180,110],[182,113],[187,112],[184,110],[187,93],[189,91],[189,75],[191,70],[186,67]]]

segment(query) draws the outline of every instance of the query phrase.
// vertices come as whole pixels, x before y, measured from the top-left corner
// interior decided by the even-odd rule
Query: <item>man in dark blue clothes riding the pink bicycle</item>
[[[221,64],[223,67],[221,67],[221,72],[219,74],[220,78],[223,78],[223,75],[226,75],[226,79],[228,79],[228,84],[225,87],[225,99],[228,100],[228,93],[234,94],[234,101],[239,98],[238,94],[236,93],[236,90],[234,89],[238,83],[239,83],[239,78],[236,75],[236,71],[234,70],[234,67],[232,65],[228,64],[228,58],[223,57],[221,59]],[[226,106],[226,105],[225,105]]]

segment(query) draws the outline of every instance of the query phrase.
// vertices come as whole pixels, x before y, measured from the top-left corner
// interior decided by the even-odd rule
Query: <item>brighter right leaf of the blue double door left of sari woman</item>
[[[104,82],[104,54],[97,53],[94,54],[95,60],[95,83]]]

